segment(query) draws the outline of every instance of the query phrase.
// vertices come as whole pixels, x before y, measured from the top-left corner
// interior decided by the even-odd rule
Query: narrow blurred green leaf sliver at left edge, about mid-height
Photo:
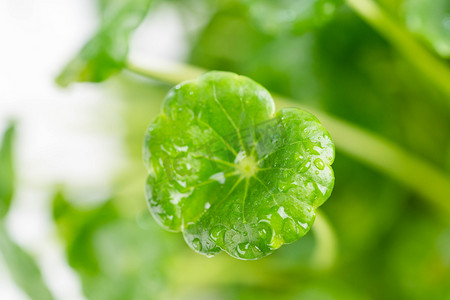
[[[10,124],[4,132],[0,144],[0,219],[8,213],[14,193],[14,133],[15,126]]]

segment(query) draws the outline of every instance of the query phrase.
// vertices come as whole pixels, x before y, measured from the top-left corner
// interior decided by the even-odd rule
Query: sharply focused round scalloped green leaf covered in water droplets
[[[319,121],[275,113],[263,87],[228,72],[169,92],[144,160],[153,216],[207,256],[257,259],[297,240],[334,184],[334,144]]]

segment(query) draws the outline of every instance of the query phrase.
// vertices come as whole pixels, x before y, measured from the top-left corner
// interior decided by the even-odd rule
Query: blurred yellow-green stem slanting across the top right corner
[[[450,69],[432,55],[373,0],[346,0],[347,4],[388,40],[450,102]]]

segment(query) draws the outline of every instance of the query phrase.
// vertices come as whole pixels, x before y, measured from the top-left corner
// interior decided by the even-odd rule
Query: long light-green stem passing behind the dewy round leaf
[[[173,63],[171,63],[174,66]],[[179,64],[173,71],[159,73],[152,68],[136,67],[129,63],[129,71],[162,80],[170,84],[198,77],[205,70]],[[181,70],[178,72],[177,70]],[[300,107],[316,115],[330,131],[336,147],[342,153],[386,174],[406,187],[420,194],[428,204],[442,215],[450,215],[450,178],[443,171],[409,153],[400,146],[344,120],[322,111],[299,105],[297,102],[275,96],[278,107]]]

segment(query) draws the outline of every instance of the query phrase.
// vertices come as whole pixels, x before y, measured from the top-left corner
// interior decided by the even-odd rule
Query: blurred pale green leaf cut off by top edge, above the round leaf
[[[267,33],[302,34],[330,20],[340,0],[243,0],[256,24]]]

